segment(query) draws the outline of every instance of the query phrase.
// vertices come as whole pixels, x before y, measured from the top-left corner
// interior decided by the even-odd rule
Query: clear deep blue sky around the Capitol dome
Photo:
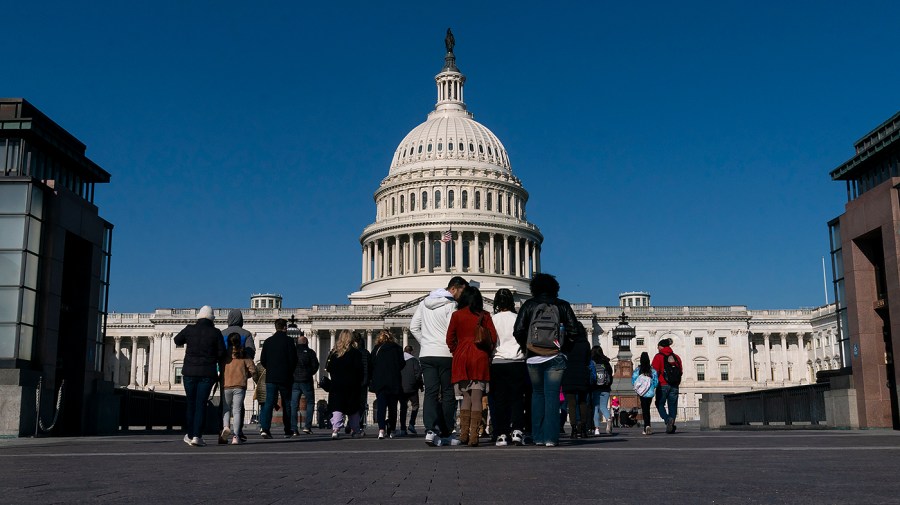
[[[347,303],[448,26],[563,297],[823,304],[828,173],[900,109],[900,3],[584,4],[4,2],[0,95],[112,174],[113,311]]]

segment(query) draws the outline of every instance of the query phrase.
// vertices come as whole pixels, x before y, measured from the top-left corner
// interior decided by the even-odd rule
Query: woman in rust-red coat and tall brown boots
[[[463,397],[459,409],[459,441],[476,447],[481,399],[487,394],[491,380],[491,352],[475,346],[475,328],[480,321],[481,326],[488,330],[491,349],[497,345],[497,330],[491,315],[484,310],[478,288],[465,288],[457,304],[457,311],[450,318],[450,327],[447,328],[447,347],[453,353],[450,381],[456,394]]]

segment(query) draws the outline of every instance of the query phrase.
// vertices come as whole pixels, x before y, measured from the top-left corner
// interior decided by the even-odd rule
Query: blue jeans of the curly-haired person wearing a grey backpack
[[[528,364],[531,379],[531,435],[535,444],[559,443],[559,386],[566,359],[561,355]]]

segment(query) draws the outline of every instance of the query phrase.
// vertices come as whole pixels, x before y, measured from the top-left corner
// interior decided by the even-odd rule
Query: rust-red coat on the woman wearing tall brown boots
[[[481,325],[487,328],[491,334],[491,340],[497,345],[497,329],[494,321],[487,312],[481,313],[484,319]],[[450,382],[457,383],[465,380],[489,381],[491,380],[491,356],[475,347],[475,326],[478,318],[468,308],[457,310],[450,317],[450,327],[447,328],[447,347],[453,353],[453,367],[450,372]]]

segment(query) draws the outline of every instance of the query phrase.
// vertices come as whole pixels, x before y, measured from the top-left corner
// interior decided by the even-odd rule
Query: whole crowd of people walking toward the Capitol
[[[410,331],[420,345],[418,358],[412,347],[401,348],[387,330],[380,332],[371,352],[362,335],[342,331],[325,359],[327,374],[320,382],[328,392],[331,438],[365,436],[362,422],[368,392],[376,397],[379,439],[417,434],[421,390],[425,442],[430,446],[478,446],[480,435],[487,431],[497,446],[553,447],[562,432],[561,411],[567,413],[572,438],[611,433],[610,407],[617,409],[618,399],[610,399],[609,358],[600,346],[591,347],[571,305],[559,298],[554,276],[536,273],[530,288],[532,297],[518,312],[513,293],[499,289],[490,313],[476,286],[453,277],[446,288],[429,293],[412,317]],[[182,372],[188,404],[184,441],[204,445],[203,415],[217,380],[222,381],[224,403],[220,443],[245,440],[243,400],[250,377],[258,384],[263,438],[272,438],[278,397],[290,405],[290,413],[284,414],[285,437],[300,433],[297,410],[302,397],[307,404],[303,432],[311,433],[313,380],[320,364],[306,337],[295,342],[286,333],[287,322],[277,319],[275,333],[254,364],[255,347],[241,327],[241,312],[231,311],[228,322],[228,328],[219,332],[213,326],[212,309],[204,306],[197,323],[175,337],[176,344],[187,344]],[[646,434],[650,434],[649,405],[654,396],[666,431],[675,432],[680,371],[672,370],[680,370],[681,360],[670,345],[671,341],[661,341],[652,363],[643,353],[632,376]],[[486,409],[490,411],[488,426]]]

